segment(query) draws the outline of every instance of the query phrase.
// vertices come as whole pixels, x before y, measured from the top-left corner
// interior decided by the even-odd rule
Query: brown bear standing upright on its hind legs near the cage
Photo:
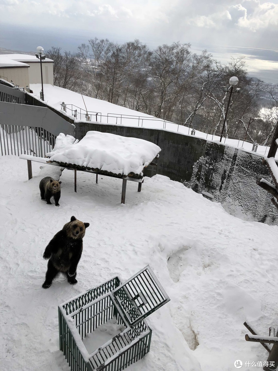
[[[85,229],[89,223],[77,220],[75,216],[70,218],[69,223],[55,234],[44,250],[43,259],[49,259],[45,281],[42,285],[44,289],[49,288],[55,277],[61,272],[67,277],[71,285],[77,283],[76,268],[83,250],[83,237]]]

